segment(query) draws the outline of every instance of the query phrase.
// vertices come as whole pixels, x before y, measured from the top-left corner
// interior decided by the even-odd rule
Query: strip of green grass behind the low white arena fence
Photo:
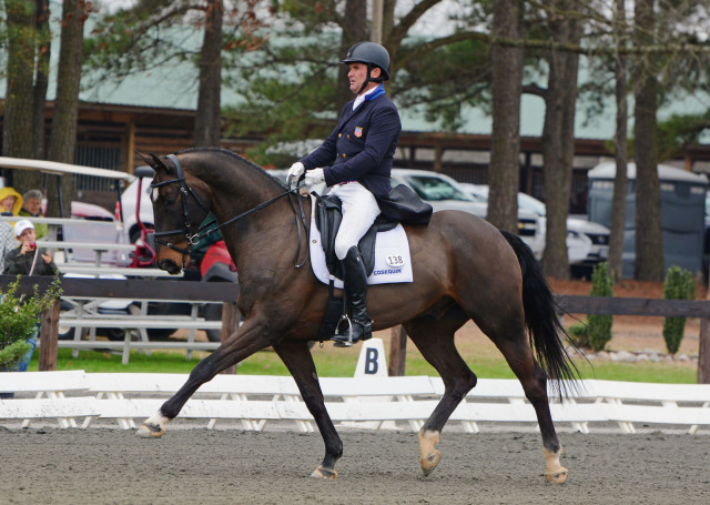
[[[465,347],[465,346],[464,346]],[[359,356],[359,345],[353,349],[335,349],[326,343],[323,347],[313,347],[312,354],[321,376],[353,376]],[[385,350],[388,345],[385,345]],[[496,351],[497,352],[497,351]],[[132,372],[132,373],[190,373],[206,353],[196,352],[191,360],[184,353],[153,351],[150,356],[132,352],[129,364],[121,363],[121,354],[112,352],[80,351],[78,357],[72,357],[71,350],[60,349],[57,357],[57,370],[84,370],[87,372]],[[36,352],[29,370],[38,370]],[[478,353],[470,358],[462,351],[468,365],[476,375],[485,378],[515,378],[503,357],[495,353]],[[608,381],[630,381],[649,383],[681,383],[697,382],[697,367],[678,363],[619,363],[597,362],[594,364],[576,361],[584,378],[601,378]],[[422,357],[416,349],[408,345],[406,375],[438,375],[436,371]],[[239,366],[239,373],[251,375],[288,375],[288,371],[274,352],[260,352],[248,357]]]

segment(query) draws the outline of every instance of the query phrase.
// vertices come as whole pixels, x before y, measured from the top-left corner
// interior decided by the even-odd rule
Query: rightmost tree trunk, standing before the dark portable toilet
[[[638,47],[652,42],[648,33],[653,32],[653,0],[636,2]],[[658,83],[650,59],[639,58],[635,64],[636,279],[658,282],[663,280],[665,266],[656,124]]]

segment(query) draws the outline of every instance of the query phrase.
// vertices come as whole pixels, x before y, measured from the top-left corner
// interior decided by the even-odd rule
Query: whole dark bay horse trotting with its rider
[[[308,350],[323,320],[327,286],[316,280],[310,265],[294,265],[298,242],[303,256],[307,238],[297,231],[288,199],[280,198],[283,188],[260,166],[220,149],[192,149],[163,159],[153,155],[150,164],[155,170],[156,241],[162,242],[156,248],[159,266],[173,274],[181,271],[190,238],[194,239],[207,212],[217,223],[229,222],[222,234],[240,274],[237,306],[245,319],[194,367],[139,434],[161,436],[202,384],[273,346],[325,442],[325,457],[312,475],[335,477],[343,444],[325,408]],[[303,204],[308,215],[310,200]],[[454,333],[473,320],[500,350],[535,408],[546,481],[565,482],[567,468],[559,462],[562,450],[550,416],[547,381],[574,384],[578,374],[565,351],[566,334],[532,253],[516,235],[458,211],[436,212],[428,226],[406,226],[406,232],[414,282],[371,286],[367,306],[373,330],[404,324],[444,381],[444,396],[418,434],[424,474],[439,463],[439,434],[477,382],[454,344]]]

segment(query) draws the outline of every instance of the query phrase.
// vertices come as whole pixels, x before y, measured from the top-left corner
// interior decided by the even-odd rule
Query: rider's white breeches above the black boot
[[[373,225],[379,215],[379,206],[375,195],[359,182],[333,186],[331,194],[343,202],[343,222],[335,238],[335,255],[343,260]]]

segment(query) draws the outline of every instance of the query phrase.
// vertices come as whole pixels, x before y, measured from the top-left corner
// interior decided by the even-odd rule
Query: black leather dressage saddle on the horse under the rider
[[[323,342],[337,334],[339,323],[347,320],[344,299],[336,299],[334,294],[335,279],[343,279],[341,262],[335,255],[335,236],[343,221],[343,202],[334,195],[312,194],[315,198],[313,206],[315,224],[321,233],[325,263],[331,274],[325,317],[318,331],[318,341]],[[377,233],[392,230],[398,223],[428,224],[433,212],[432,205],[423,202],[414,191],[403,184],[395,186],[386,196],[378,198],[377,203],[382,213],[357,243],[367,275],[373,273],[375,266]]]

